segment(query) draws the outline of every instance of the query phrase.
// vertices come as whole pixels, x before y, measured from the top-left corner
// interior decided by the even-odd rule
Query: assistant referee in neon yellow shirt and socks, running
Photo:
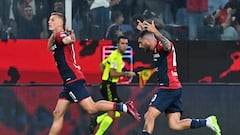
[[[116,83],[122,76],[133,77],[136,76],[136,74],[135,72],[122,72],[122,55],[128,47],[127,37],[118,37],[117,46],[118,48],[100,64],[100,70],[102,72],[100,91],[105,100],[121,103],[121,100],[118,97]],[[103,135],[108,127],[112,124],[115,117],[120,117],[120,113],[109,111],[108,113],[98,116],[97,119],[92,117],[89,125],[90,132],[93,133],[96,125],[100,124],[95,135]]]

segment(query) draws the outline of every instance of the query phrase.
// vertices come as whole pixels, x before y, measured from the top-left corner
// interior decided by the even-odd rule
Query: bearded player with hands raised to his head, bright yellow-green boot
[[[181,119],[182,113],[182,86],[178,79],[176,52],[174,45],[164,37],[155,27],[154,21],[138,21],[137,29],[139,48],[153,52],[153,62],[157,69],[159,90],[150,102],[145,113],[145,124],[142,135],[151,135],[155,119],[165,113],[169,127],[173,130],[195,129],[208,127],[216,135],[221,135],[220,127],[215,116],[206,119]]]

